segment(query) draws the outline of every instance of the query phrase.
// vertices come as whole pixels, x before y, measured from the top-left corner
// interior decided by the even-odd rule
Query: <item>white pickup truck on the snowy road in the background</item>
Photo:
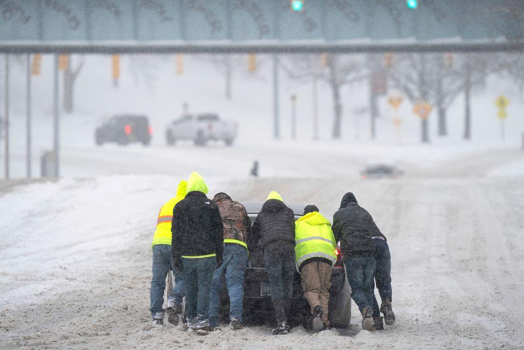
[[[222,121],[217,114],[185,114],[173,120],[166,128],[166,141],[173,145],[178,140],[193,140],[203,146],[208,141],[224,140],[231,146],[235,140],[238,124]]]

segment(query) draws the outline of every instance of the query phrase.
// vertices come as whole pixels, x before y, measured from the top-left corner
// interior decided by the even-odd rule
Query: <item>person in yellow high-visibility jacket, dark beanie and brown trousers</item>
[[[313,329],[329,327],[328,303],[331,288],[331,267],[336,262],[336,241],[331,222],[308,205],[304,215],[295,221],[296,267],[301,274],[304,298],[313,315]]]

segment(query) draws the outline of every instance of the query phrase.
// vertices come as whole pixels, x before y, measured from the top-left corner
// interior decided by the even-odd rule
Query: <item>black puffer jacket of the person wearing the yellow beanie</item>
[[[294,213],[281,200],[268,199],[251,229],[253,243],[261,239],[261,249],[279,241],[294,246]]]

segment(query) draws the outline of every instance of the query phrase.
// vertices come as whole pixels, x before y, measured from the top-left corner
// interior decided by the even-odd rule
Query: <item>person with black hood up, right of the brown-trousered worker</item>
[[[375,242],[373,218],[358,205],[353,193],[342,197],[340,209],[333,216],[333,234],[344,253],[351,298],[362,314],[362,329],[373,328],[373,279],[375,277]]]

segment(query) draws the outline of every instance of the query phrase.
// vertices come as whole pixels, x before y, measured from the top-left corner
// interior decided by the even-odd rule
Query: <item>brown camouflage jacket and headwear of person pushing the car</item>
[[[233,239],[247,244],[251,219],[247,216],[246,208],[225,193],[217,193],[213,201],[220,210],[224,225],[224,239]]]

